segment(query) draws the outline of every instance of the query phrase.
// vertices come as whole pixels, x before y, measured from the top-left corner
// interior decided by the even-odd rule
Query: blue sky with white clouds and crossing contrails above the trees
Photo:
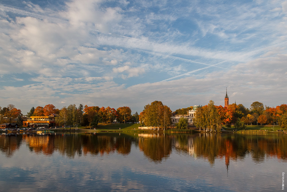
[[[0,106],[286,102],[287,1],[0,1]]]

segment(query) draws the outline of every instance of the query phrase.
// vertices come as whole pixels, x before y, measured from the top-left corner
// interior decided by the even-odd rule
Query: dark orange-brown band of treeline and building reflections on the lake
[[[123,156],[131,153],[131,146],[150,161],[160,163],[169,158],[172,149],[177,152],[207,160],[212,166],[216,159],[224,159],[226,168],[230,160],[252,157],[261,163],[266,158],[287,162],[287,136],[240,134],[119,134],[119,133],[57,133],[38,135],[1,134],[0,151],[12,157],[24,143],[30,152],[52,155],[55,151],[69,158],[82,155],[109,155],[117,152]]]

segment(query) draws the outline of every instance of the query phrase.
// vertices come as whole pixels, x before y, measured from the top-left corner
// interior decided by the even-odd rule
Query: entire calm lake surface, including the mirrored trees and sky
[[[282,172],[280,134],[0,135],[1,191],[282,191]]]

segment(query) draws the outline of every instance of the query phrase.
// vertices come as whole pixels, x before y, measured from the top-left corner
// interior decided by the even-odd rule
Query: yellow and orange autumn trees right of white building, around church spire
[[[219,131],[223,124],[234,124],[236,129],[245,129],[246,124],[252,125],[280,125],[287,128],[287,105],[268,107],[259,101],[255,101],[250,108],[242,104],[233,103],[228,107],[214,105],[210,101],[208,105],[199,107],[195,113],[194,123],[198,128],[207,131]]]

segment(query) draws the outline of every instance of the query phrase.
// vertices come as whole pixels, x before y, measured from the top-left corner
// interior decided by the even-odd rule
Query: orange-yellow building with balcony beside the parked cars
[[[58,114],[50,113],[48,116],[31,116],[23,120],[23,127],[53,127],[56,126],[55,117]]]

